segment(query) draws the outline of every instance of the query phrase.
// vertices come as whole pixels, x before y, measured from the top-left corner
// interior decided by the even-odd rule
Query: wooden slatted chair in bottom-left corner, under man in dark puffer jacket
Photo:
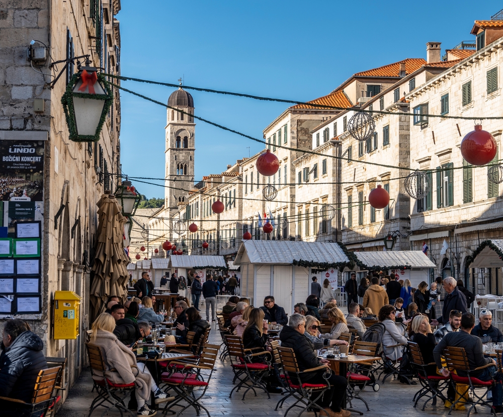
[[[17,417],[29,417],[46,415],[50,407],[54,407],[56,397],[53,395],[56,381],[60,378],[61,366],[42,369],[35,381],[31,402],[24,402],[19,399],[0,397],[0,415],[8,412],[7,415]]]

